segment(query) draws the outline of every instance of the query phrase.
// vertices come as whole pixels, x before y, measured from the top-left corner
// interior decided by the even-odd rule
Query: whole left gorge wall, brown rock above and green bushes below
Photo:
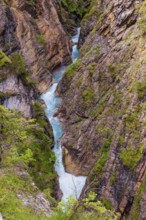
[[[38,97],[52,70],[71,61],[70,38],[53,0],[0,1],[0,20],[0,212],[46,219],[61,192],[52,129]]]

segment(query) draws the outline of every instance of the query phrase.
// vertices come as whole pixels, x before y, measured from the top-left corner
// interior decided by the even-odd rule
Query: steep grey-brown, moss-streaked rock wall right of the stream
[[[145,1],[93,1],[58,87],[66,170],[88,175],[82,197],[95,191],[131,220],[146,218],[145,13]]]

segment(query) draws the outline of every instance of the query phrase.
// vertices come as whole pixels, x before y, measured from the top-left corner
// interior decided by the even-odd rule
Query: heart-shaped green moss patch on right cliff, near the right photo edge
[[[143,146],[139,146],[137,149],[124,148],[120,153],[122,163],[133,171],[142,157],[143,149]]]

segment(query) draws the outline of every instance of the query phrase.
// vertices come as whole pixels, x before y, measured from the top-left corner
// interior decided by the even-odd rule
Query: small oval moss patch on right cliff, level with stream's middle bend
[[[85,105],[92,104],[95,97],[96,94],[94,93],[93,89],[90,87],[87,87],[82,91],[82,98],[84,100]]]

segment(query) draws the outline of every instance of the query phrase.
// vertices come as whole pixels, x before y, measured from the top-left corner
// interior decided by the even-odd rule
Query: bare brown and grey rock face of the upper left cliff
[[[0,3],[0,16],[0,49],[10,59],[16,52],[21,54],[29,72],[26,80],[22,77],[18,80],[18,74],[22,73],[16,75],[14,68],[13,71],[3,68],[7,77],[1,80],[0,91],[12,96],[4,96],[2,102],[8,108],[25,112],[24,116],[30,118],[31,101],[38,92],[48,88],[51,71],[61,63],[70,62],[70,39],[59,21],[55,1]],[[19,66],[18,58],[15,56],[12,60],[15,61],[13,66]],[[28,86],[28,81],[33,81],[35,88]]]

